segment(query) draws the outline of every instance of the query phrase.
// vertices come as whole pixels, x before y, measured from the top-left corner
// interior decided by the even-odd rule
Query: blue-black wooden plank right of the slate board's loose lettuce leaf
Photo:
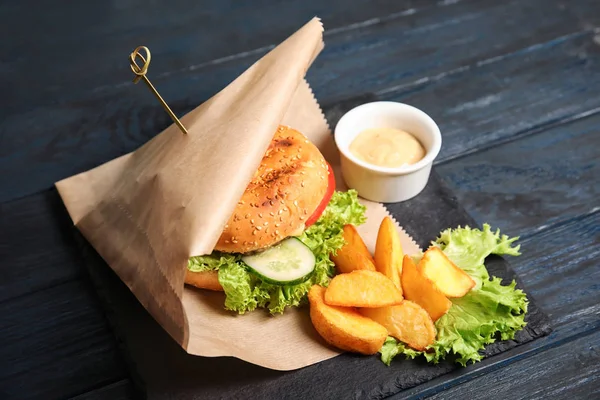
[[[547,226],[519,243],[523,254],[511,257],[511,266],[524,283],[528,294],[550,316],[553,333],[523,345],[520,355],[508,351],[485,360],[486,373],[498,371],[516,359],[524,359],[558,347],[572,338],[586,336],[600,329],[600,305],[597,299],[600,282],[600,212],[575,218],[567,223]],[[559,364],[556,364],[559,365]],[[495,376],[491,375],[491,376]],[[466,382],[478,373],[449,374],[408,390],[408,398],[440,393]],[[443,392],[445,393],[445,392]]]

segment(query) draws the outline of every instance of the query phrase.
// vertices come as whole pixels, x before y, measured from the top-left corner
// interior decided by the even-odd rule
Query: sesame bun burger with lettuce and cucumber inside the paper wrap
[[[353,190],[335,190],[331,166],[304,135],[279,126],[210,255],[191,257],[185,283],[225,292],[239,313],[298,306],[334,274],[346,224],[365,221]]]

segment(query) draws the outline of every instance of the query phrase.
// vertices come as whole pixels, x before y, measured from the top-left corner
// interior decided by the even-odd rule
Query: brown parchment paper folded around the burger
[[[329,126],[304,75],[323,48],[317,18],[229,86],[136,151],[56,183],[77,228],[156,321],[188,353],[233,356],[277,370],[338,355],[306,308],[272,317],[223,309],[223,293],[184,288],[190,256],[212,252],[279,124],[315,143],[336,172]],[[371,251],[387,210],[363,200],[358,228]],[[398,226],[407,254],[419,251]]]

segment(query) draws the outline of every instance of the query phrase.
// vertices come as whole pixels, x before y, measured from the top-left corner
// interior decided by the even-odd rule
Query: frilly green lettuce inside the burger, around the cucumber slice
[[[334,273],[329,259],[344,245],[342,229],[346,224],[360,225],[366,221],[366,208],[358,201],[356,191],[335,192],[321,217],[298,237],[315,255],[315,271],[305,282],[296,285],[273,285],[261,281],[244,268],[240,256],[213,252],[208,256],[191,257],[190,271],[219,271],[219,283],[225,291],[225,308],[243,314],[256,308],[271,313],[283,313],[306,301],[312,285],[327,286]]]

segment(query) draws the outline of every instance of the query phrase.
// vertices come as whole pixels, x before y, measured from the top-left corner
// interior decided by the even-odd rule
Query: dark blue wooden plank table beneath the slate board
[[[150,47],[181,115],[314,15],[320,103],[430,114],[438,174],[477,221],[521,236],[512,266],[554,328],[402,396],[600,397],[600,1],[21,0],[0,4],[0,398],[134,394],[52,189],[170,123],[131,83],[131,50]]]

